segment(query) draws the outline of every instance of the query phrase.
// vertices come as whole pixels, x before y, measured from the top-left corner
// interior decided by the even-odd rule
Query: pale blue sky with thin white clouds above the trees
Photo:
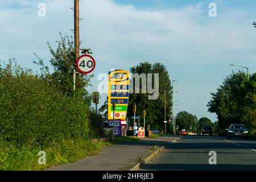
[[[39,3],[46,16],[39,16]],[[210,17],[215,3],[217,16]],[[255,1],[234,0],[80,0],[81,47],[90,47],[96,60],[93,86],[100,73],[125,69],[148,61],[166,65],[175,82],[175,114],[188,111],[208,117],[210,92],[216,92],[226,75],[238,67],[256,70]],[[0,59],[15,57],[18,64],[39,71],[35,52],[47,65],[59,32],[73,35],[72,0],[1,0]],[[101,94],[100,105],[106,94]]]

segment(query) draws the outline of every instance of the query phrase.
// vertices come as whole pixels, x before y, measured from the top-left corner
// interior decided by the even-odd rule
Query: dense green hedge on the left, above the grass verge
[[[30,70],[0,65],[0,140],[23,146],[49,146],[63,139],[89,139],[89,108]]]

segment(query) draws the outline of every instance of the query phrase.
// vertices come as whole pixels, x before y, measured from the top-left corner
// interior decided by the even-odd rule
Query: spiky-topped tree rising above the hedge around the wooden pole
[[[46,73],[48,80],[53,82],[63,94],[67,96],[73,96],[73,69],[76,68],[76,54],[72,36],[63,36],[60,33],[60,40],[56,41],[57,48],[54,50],[52,46],[47,42],[49,51],[52,58],[50,63],[53,67],[53,73],[48,73],[48,68],[44,67],[43,60],[38,57],[39,61],[34,63],[42,65],[42,73]],[[91,97],[86,87],[90,85],[90,78],[93,75],[83,75],[81,73],[76,75],[76,95],[80,95],[84,98],[86,104],[90,105]]]

